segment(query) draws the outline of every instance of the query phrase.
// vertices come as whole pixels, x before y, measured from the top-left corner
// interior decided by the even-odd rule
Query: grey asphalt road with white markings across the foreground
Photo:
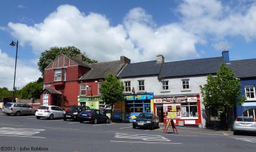
[[[0,151],[255,151],[256,136],[178,127],[163,132],[133,129],[131,123],[36,120],[0,113]]]

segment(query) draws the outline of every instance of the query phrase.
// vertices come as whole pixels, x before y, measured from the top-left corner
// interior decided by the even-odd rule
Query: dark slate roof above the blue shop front
[[[161,71],[162,64],[163,63],[157,63],[156,60],[127,64],[121,73],[118,74],[118,77],[125,78],[132,76],[158,76]]]

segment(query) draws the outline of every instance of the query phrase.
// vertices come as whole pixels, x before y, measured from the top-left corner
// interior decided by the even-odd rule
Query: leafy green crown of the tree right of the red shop
[[[225,64],[221,64],[217,76],[211,74],[207,76],[207,83],[200,90],[204,98],[205,106],[221,105],[233,107],[236,104],[243,104],[245,97],[241,97],[241,85],[239,79]]]

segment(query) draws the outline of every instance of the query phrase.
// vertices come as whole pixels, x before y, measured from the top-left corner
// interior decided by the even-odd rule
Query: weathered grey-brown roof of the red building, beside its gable
[[[110,62],[99,62],[90,64],[91,70],[79,78],[83,79],[101,79],[105,78],[108,73],[113,73],[115,76],[120,72],[124,64],[120,63],[120,60]]]

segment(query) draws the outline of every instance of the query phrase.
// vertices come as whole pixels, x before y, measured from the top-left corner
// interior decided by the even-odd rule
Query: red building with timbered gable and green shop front
[[[44,70],[44,90],[40,104],[100,107],[102,100],[99,86],[106,74],[117,75],[130,62],[122,56],[116,61],[88,64],[82,61],[82,55],[73,59],[61,54]]]

